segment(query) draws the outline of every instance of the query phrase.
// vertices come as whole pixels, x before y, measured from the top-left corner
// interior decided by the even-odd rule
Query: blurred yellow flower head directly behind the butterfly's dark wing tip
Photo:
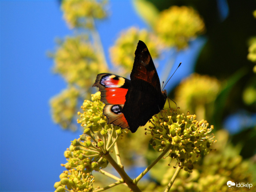
[[[109,49],[111,61],[116,66],[125,69],[126,74],[130,74],[134,62],[134,52],[139,40],[143,41],[150,52],[152,58],[159,57],[159,41],[147,30],[130,28],[124,31],[116,40],[115,45]]]

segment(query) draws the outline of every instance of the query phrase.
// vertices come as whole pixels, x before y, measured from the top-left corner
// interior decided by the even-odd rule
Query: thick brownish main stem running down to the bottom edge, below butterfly
[[[110,156],[109,153],[105,155],[106,159],[109,161],[109,163],[116,169],[116,171],[119,173],[119,175],[122,177],[124,182],[128,185],[130,189],[132,189],[133,192],[141,192],[140,188],[136,184],[132,182],[132,179],[127,175],[127,173],[124,171],[123,167],[120,167],[116,161]]]

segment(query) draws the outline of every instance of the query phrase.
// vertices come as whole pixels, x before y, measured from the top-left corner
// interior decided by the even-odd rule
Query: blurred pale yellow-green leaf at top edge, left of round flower
[[[146,23],[148,23],[148,25],[150,25],[151,28],[153,28],[155,26],[159,14],[157,8],[152,3],[145,0],[133,0],[132,2],[135,7],[135,10],[140,15],[140,17]]]

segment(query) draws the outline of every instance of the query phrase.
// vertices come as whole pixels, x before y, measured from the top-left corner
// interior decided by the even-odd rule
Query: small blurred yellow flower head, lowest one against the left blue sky
[[[72,119],[76,113],[78,95],[79,92],[76,88],[69,87],[51,99],[52,118],[64,129],[76,130],[76,125],[72,124]]]

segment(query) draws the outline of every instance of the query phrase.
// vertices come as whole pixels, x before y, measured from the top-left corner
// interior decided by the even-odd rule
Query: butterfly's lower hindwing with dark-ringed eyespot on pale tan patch
[[[129,128],[129,125],[122,113],[124,105],[105,105],[103,114],[108,118],[108,124],[114,124],[122,129]]]

